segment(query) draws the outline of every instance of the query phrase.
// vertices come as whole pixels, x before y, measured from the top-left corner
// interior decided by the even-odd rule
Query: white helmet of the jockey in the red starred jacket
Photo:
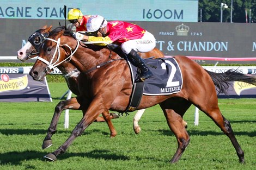
[[[107,26],[107,20],[103,16],[93,15],[89,18],[86,28],[88,32],[96,32],[102,27]]]

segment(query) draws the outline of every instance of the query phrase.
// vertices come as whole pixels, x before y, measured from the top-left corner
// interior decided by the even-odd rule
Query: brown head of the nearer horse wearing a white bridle
[[[69,42],[69,45],[66,42]],[[66,30],[65,27],[53,29],[39,46],[38,58],[29,74],[34,80],[42,81],[54,67],[69,61],[78,46],[79,43],[72,37],[70,30]]]

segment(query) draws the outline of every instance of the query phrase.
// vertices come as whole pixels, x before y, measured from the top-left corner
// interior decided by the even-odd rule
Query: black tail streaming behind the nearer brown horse
[[[227,95],[228,87],[231,85],[230,81],[242,81],[252,85],[256,85],[256,77],[245,75],[239,72],[236,72],[234,69],[230,69],[224,73],[215,73],[208,70],[205,70],[214,81],[214,85],[217,87],[218,93],[224,93]]]

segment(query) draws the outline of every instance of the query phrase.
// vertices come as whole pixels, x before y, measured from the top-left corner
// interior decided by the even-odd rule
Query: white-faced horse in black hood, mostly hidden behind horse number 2
[[[50,33],[51,28],[52,26],[50,27],[44,26],[41,29],[36,30],[36,32],[33,33],[28,38],[28,41],[25,44],[25,46],[23,46],[17,52],[17,58],[21,61],[26,61],[28,59],[34,58],[39,53],[38,48],[44,41],[45,37],[47,37],[48,34]],[[163,53],[161,53],[157,48],[154,48],[153,51],[150,51],[148,53],[139,53],[139,55],[141,55],[142,58],[149,58],[150,56],[154,56],[155,58],[163,57]],[[74,93],[75,95],[78,95],[79,91],[78,91],[77,82],[78,82],[78,75],[80,74],[80,72],[70,62],[61,64],[58,66],[58,68],[64,74],[64,78],[66,80],[66,83],[68,84],[69,89],[72,91],[72,93]],[[80,105],[76,103],[76,101],[73,101],[72,99],[65,100],[65,101],[59,102],[59,104],[56,106],[54,115],[60,115],[64,109],[78,110],[79,108],[80,108]],[[136,113],[135,117],[133,118],[133,130],[135,131],[136,134],[138,134],[139,131],[141,130],[141,128],[138,125],[138,121],[143,115],[144,111],[145,109],[139,110]],[[54,119],[54,123],[53,123],[54,131],[57,130],[56,128],[57,128],[58,118],[59,116],[57,116],[57,118]],[[117,118],[117,116],[115,116],[114,114],[111,114],[110,118],[111,119]],[[102,121],[105,121],[105,119],[103,119],[102,117],[96,118],[96,122],[102,122]],[[185,121],[184,121],[184,125],[185,126],[187,125]],[[53,127],[50,127],[50,128],[53,129]],[[115,135],[117,135],[115,129],[112,128],[111,126],[109,126],[109,130],[111,131],[111,137],[114,137]],[[53,133],[54,132],[51,131],[51,135],[47,135],[48,136],[46,137],[47,140],[45,140],[42,146],[43,149],[51,146],[52,140],[50,139],[50,136],[52,136]]]

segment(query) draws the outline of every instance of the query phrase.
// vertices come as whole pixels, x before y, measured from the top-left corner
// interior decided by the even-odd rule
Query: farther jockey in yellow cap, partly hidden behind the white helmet
[[[73,8],[68,12],[68,20],[76,27],[76,32],[85,32],[86,24],[92,15],[83,15],[81,10]]]

